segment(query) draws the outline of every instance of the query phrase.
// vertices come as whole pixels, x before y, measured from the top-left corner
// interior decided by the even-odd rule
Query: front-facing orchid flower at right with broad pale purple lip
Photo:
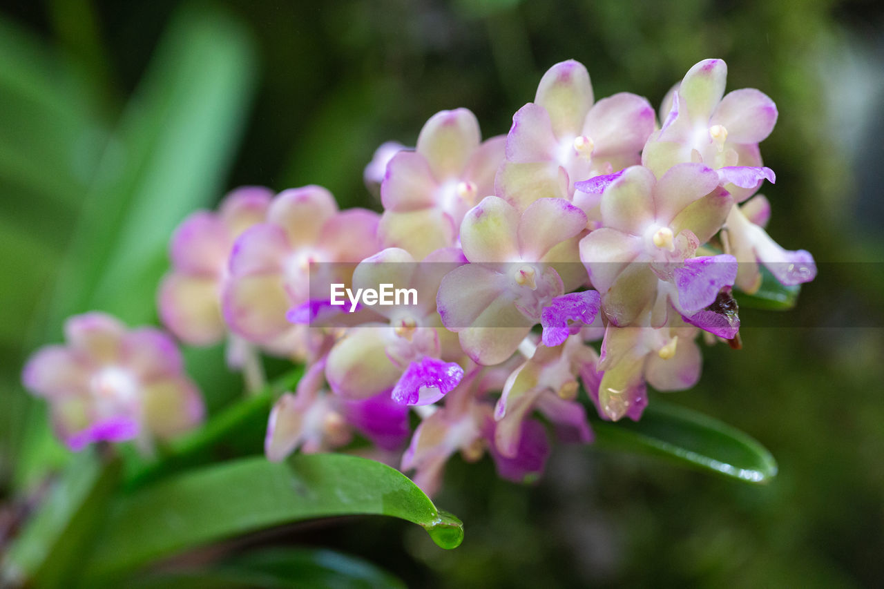
[[[732,204],[718,174],[703,164],[677,164],[659,180],[633,166],[614,180],[601,200],[605,226],[580,242],[608,320],[633,325],[648,312],[651,325],[661,327],[670,305],[690,316],[733,285],[734,256],[695,257]]]

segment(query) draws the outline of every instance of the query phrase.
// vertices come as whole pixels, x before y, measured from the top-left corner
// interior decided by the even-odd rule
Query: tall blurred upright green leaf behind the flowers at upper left
[[[208,9],[173,20],[87,195],[56,321],[92,308],[130,323],[155,317],[171,232],[223,190],[254,70],[235,20]]]

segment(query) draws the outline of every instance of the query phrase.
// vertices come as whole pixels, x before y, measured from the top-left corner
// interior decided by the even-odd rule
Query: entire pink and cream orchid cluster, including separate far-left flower
[[[255,386],[259,352],[305,364],[271,411],[271,460],[357,451],[360,436],[428,493],[457,453],[537,478],[551,434],[591,442],[587,407],[638,420],[647,386],[697,383],[701,335],[739,347],[735,289],[758,290],[759,264],[783,285],[816,274],[764,229],[756,193],[775,177],[758,143],[776,107],[756,89],[725,95],[726,77],[720,59],[692,67],[658,124],[643,97],[596,102],[583,65],[554,65],[506,136],[483,141],[457,109],[414,149],[381,146],[365,170],[381,214],[339,210],[317,186],[240,188],[179,226],[159,315],[186,344],[227,340]],[[415,301],[330,298],[385,284]],[[149,447],[202,418],[168,336],[89,314],[67,338],[24,380],[70,447]]]

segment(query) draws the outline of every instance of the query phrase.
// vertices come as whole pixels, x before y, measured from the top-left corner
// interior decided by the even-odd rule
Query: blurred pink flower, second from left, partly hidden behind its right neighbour
[[[241,187],[225,196],[217,212],[199,210],[179,225],[171,239],[171,272],[160,285],[160,319],[179,340],[207,346],[224,339],[221,287],[233,241],[263,223],[273,193]]]

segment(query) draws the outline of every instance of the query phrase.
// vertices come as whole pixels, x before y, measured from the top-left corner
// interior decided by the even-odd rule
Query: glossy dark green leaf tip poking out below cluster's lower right
[[[659,455],[748,483],[776,476],[773,455],[735,427],[702,413],[654,400],[638,422],[596,421],[599,447]]]

